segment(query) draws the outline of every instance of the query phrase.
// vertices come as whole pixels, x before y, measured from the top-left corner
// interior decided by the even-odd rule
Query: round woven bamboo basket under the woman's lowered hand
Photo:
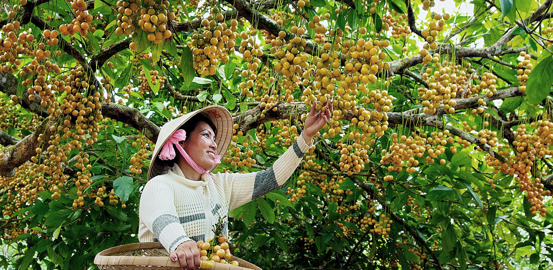
[[[141,249],[148,248],[165,248],[161,245],[160,242],[140,242],[140,243],[129,243],[126,245],[115,246],[107,248],[106,250],[100,251],[96,254],[94,258],[94,264],[98,266],[152,266],[152,267],[175,267],[180,268],[179,262],[173,262],[169,259],[169,256],[113,256],[117,253],[137,251]],[[217,263],[212,261],[202,261],[202,269],[218,269],[225,267],[226,269],[242,269],[242,270],[262,270],[261,268],[255,266],[250,262],[244,261],[241,258],[232,256],[231,260],[237,260],[241,266],[231,266],[230,264]],[[252,268],[242,267],[242,265],[249,265]],[[209,266],[210,268],[204,268]]]

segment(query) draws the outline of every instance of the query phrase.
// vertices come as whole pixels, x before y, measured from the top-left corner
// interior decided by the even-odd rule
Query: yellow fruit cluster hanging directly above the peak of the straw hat
[[[188,46],[192,50],[194,62],[192,66],[201,75],[214,75],[219,61],[228,62],[229,52],[234,52],[234,45],[238,34],[238,21],[231,20],[231,27],[224,22],[223,14],[218,13],[218,8],[212,8],[211,14],[201,22],[202,28],[194,30],[192,41]],[[200,33],[201,31],[201,33]]]

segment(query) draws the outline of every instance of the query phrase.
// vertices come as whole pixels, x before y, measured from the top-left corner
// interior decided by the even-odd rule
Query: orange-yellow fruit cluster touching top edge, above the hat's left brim
[[[137,9],[139,14],[138,25],[142,31],[150,32],[148,40],[159,44],[162,40],[171,38],[173,33],[168,28],[168,22],[175,19],[175,13],[169,11],[169,1],[146,0],[144,5],[145,7]]]

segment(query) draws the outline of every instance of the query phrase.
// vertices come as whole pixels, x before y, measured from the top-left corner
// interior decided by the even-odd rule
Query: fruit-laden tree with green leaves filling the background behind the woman
[[[552,0],[8,0],[0,266],[91,269],[138,242],[166,121],[233,114],[222,172],[332,120],[229,212],[264,269],[551,269]]]

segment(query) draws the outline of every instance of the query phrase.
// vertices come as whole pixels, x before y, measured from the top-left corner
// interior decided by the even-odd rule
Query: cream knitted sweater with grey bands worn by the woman
[[[213,237],[212,225],[219,217],[282,186],[311,146],[300,134],[267,170],[207,173],[201,181],[186,179],[175,164],[172,171],[150,179],[142,190],[138,240],[159,241],[173,252],[182,242]],[[226,223],[223,234],[228,237]]]

